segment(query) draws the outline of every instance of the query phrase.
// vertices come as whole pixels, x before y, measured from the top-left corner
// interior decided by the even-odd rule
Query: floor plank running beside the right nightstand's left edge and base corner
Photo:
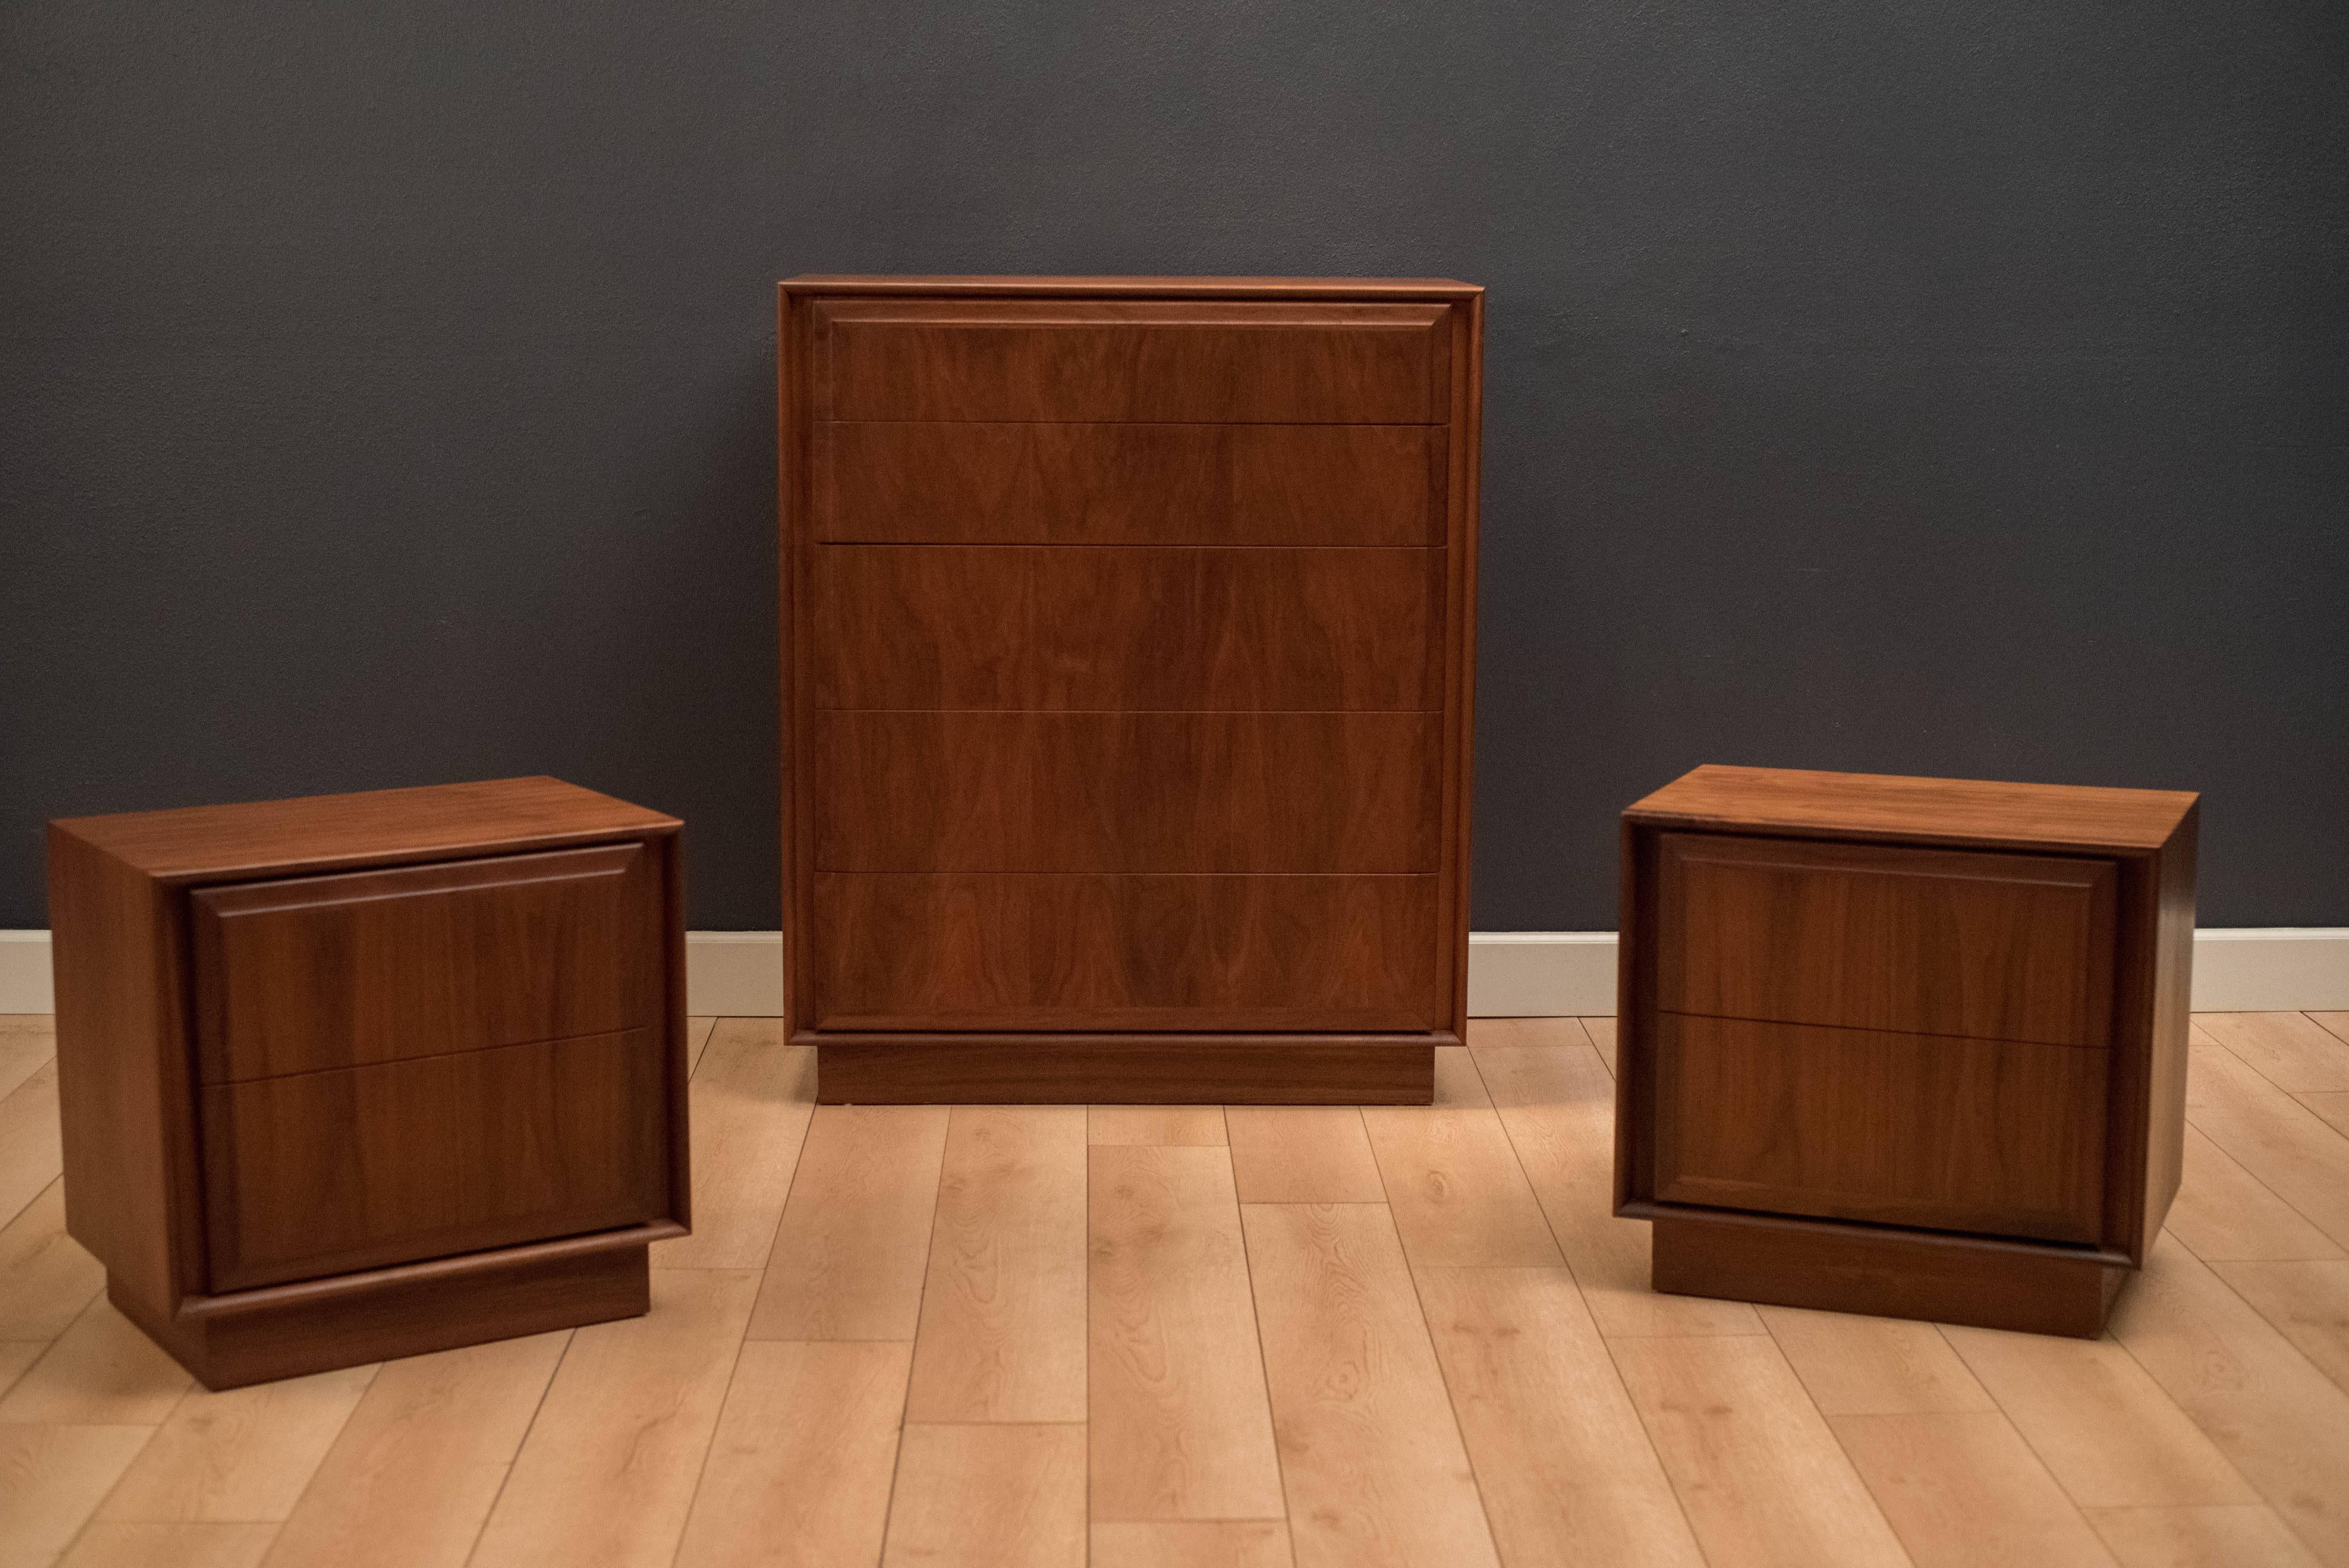
[[[1649,1289],[1649,1225],[1614,1216],[1614,1077],[1597,1052],[1480,1047],[1475,1061],[1600,1333],[1762,1333],[1743,1300]]]

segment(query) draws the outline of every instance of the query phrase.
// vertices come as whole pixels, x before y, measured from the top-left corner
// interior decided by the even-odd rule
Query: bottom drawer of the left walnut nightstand
[[[669,1211],[651,1028],[207,1084],[202,1138],[214,1291]]]

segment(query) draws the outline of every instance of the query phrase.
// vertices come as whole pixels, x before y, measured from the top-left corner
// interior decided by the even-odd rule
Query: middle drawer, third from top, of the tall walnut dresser
[[[1433,549],[824,545],[822,709],[1438,709]]]

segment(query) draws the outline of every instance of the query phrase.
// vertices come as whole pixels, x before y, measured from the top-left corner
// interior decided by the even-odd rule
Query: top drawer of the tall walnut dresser
[[[1440,425],[1449,305],[817,300],[820,420]]]

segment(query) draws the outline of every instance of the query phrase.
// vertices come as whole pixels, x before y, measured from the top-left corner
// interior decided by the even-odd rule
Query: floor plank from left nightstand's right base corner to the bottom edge
[[[653,1310],[571,1333],[472,1568],[667,1568],[759,1275],[653,1270]]]

